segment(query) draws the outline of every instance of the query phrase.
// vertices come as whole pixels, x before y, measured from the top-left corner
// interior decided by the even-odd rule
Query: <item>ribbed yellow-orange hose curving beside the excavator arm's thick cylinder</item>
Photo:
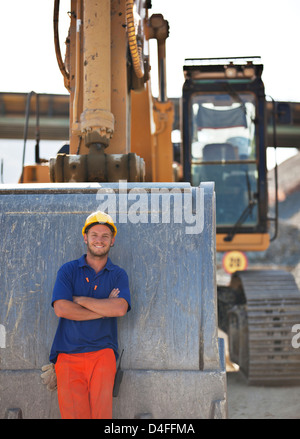
[[[138,45],[134,27],[133,0],[126,0],[126,23],[129,49],[132,58],[133,69],[138,78],[144,76],[144,64],[142,47]]]

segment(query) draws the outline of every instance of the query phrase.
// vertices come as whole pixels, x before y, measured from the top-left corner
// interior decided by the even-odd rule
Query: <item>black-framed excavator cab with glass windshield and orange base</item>
[[[215,182],[218,250],[246,250],[249,243],[264,250],[269,238],[263,66],[252,59],[187,61],[184,180],[193,186]]]

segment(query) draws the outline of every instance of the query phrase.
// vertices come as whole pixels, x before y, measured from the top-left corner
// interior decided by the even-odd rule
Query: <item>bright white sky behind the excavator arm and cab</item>
[[[54,1],[0,0],[0,4],[0,91],[65,94],[53,43]],[[69,10],[70,0],[61,0],[63,55]],[[181,95],[185,58],[261,56],[266,94],[300,102],[300,0],[152,0],[150,15],[154,13],[163,14],[170,26],[168,97]],[[151,81],[157,96],[155,49],[151,42]],[[3,141],[0,158],[1,145]]]

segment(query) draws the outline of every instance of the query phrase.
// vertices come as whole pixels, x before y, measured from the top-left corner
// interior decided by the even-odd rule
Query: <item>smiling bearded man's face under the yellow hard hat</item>
[[[84,242],[92,256],[106,256],[115,242],[111,230],[104,224],[96,224],[84,234]]]

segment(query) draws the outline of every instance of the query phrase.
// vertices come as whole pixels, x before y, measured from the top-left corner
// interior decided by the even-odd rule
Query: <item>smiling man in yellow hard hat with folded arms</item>
[[[111,419],[117,317],[131,308],[128,276],[108,257],[117,234],[109,215],[93,212],[82,234],[87,253],[57,273],[52,306],[60,319],[50,361],[63,419]]]

